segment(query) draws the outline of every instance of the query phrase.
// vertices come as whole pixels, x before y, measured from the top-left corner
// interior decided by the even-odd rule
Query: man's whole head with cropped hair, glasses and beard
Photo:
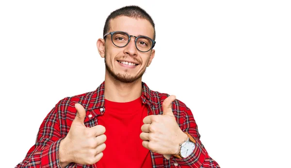
[[[141,80],[155,55],[155,25],[146,11],[138,6],[113,11],[103,35],[97,48],[105,59],[106,75],[125,83]]]

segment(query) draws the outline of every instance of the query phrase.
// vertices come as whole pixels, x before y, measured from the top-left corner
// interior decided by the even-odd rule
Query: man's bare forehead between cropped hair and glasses
[[[125,31],[129,35],[145,35],[150,38],[154,36],[154,28],[146,19],[118,16],[110,21],[111,31]]]

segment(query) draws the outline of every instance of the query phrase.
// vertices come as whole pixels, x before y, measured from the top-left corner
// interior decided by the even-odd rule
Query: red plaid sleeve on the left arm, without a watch
[[[60,133],[57,105],[42,122],[35,144],[15,168],[61,168],[59,146],[63,138]]]

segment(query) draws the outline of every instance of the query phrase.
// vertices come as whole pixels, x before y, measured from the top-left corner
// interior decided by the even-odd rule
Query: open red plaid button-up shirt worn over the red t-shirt
[[[148,115],[162,114],[162,102],[169,95],[151,91],[144,82],[142,82],[142,88],[142,102],[149,107]],[[61,168],[59,146],[75,119],[77,112],[74,106],[75,103],[80,103],[86,110],[85,126],[93,127],[97,125],[97,116],[102,115],[106,109],[104,107],[104,82],[96,91],[66,97],[56,104],[42,122],[37,134],[36,143],[16,168]],[[172,109],[179,127],[182,131],[186,131],[194,137],[196,147],[190,156],[183,159],[172,156],[170,160],[166,160],[162,154],[151,151],[153,168],[220,168],[210,158],[199,140],[200,135],[191,110],[177,99],[172,103]],[[96,164],[80,165],[70,163],[66,168],[97,168],[97,166]]]

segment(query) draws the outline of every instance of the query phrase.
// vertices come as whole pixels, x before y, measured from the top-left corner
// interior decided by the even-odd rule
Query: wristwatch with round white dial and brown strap
[[[189,135],[187,132],[184,133],[187,134],[188,139],[184,143],[179,144],[179,153],[173,155],[174,157],[179,159],[185,158],[192,154],[194,152],[196,144],[195,139],[191,135]]]

